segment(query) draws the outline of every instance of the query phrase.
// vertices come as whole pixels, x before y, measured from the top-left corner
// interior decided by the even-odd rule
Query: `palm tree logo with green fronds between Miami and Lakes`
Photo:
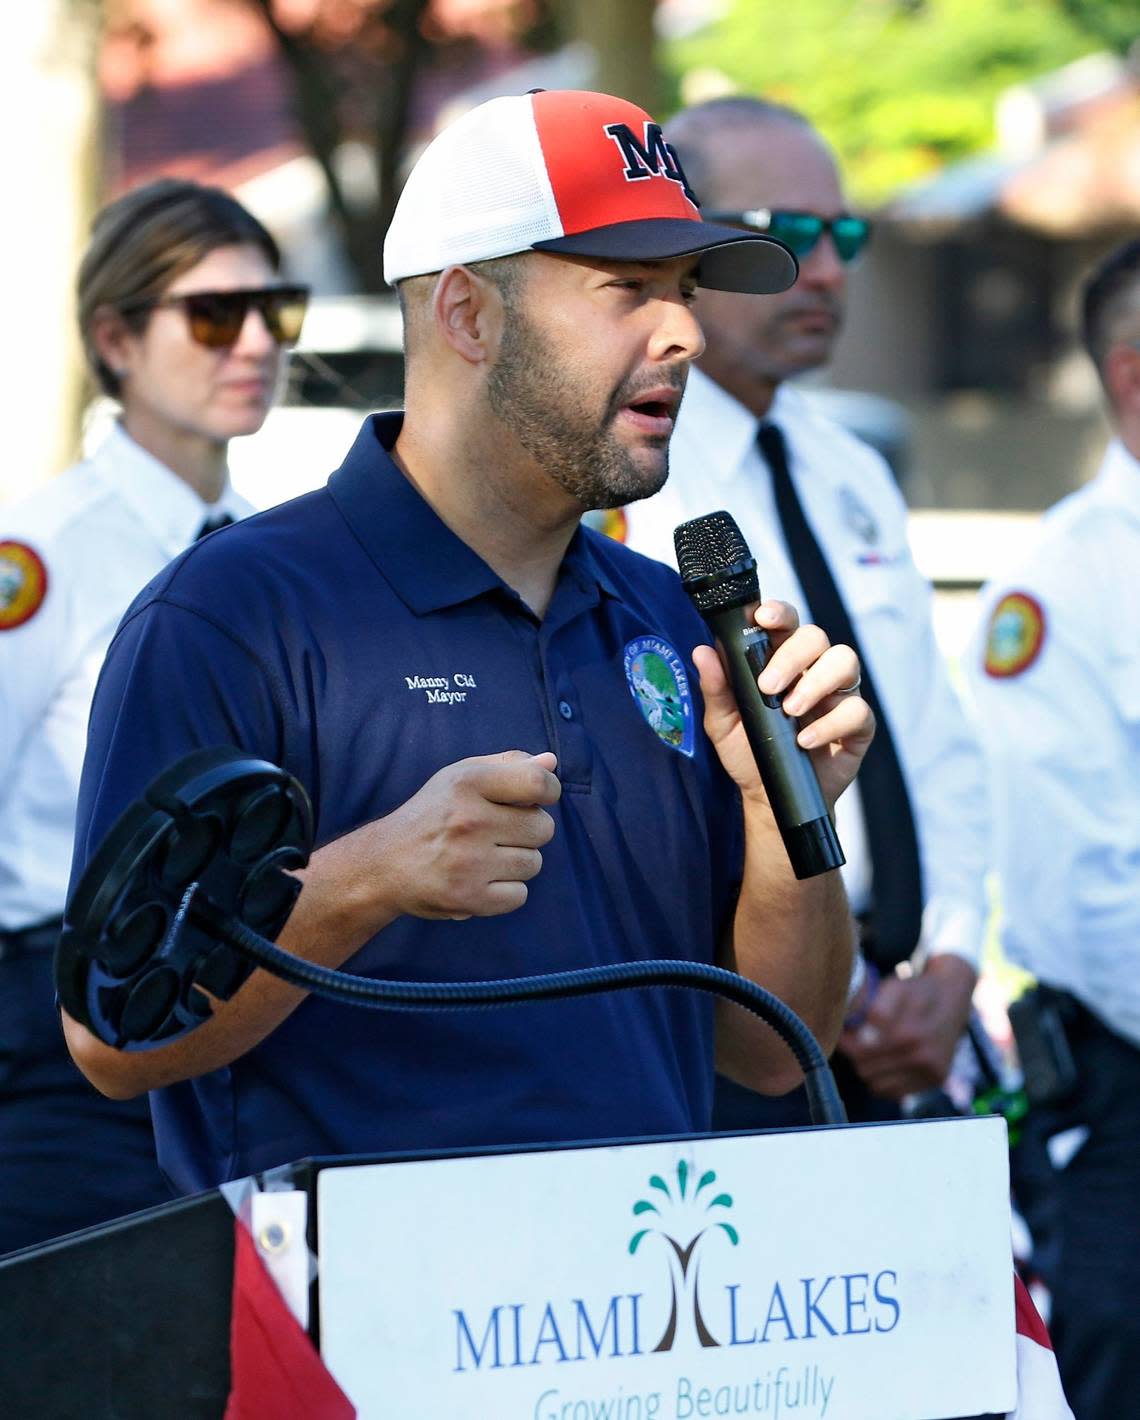
[[[735,1247],[740,1234],[731,1223],[724,1223],[710,1217],[714,1208],[731,1208],[733,1197],[728,1193],[706,1193],[717,1181],[716,1173],[710,1169],[700,1176],[696,1189],[689,1191],[690,1167],[681,1159],[677,1164],[677,1191],[674,1193],[660,1174],[649,1176],[649,1187],[656,1190],[659,1197],[639,1198],[633,1204],[633,1216],[647,1217],[650,1213],[660,1218],[660,1224],[640,1228],[629,1240],[629,1255],[637,1251],[642,1241],[650,1235],[663,1238],[667,1244],[669,1282],[672,1287],[672,1305],[669,1321],[666,1322],[662,1339],[653,1350],[672,1350],[677,1340],[679,1328],[686,1335],[696,1335],[701,1346],[720,1346],[717,1338],[708,1331],[700,1304],[700,1261],[697,1261],[698,1244],[716,1235],[717,1230],[727,1234],[728,1241]],[[676,1235],[674,1235],[676,1234]],[[686,1238],[687,1241],[680,1241]]]

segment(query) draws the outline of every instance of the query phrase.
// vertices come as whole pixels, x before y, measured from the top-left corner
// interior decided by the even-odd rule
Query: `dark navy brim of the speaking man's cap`
[[[535,241],[532,250],[598,257],[602,261],[667,261],[700,253],[700,285],[752,295],[787,291],[799,275],[799,263],[791,248],[775,237],[721,227],[714,222],[689,222],[686,217],[615,222],[571,237]]]

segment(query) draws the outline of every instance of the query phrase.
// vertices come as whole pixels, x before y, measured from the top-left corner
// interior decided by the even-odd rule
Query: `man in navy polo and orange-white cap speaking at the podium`
[[[190,750],[285,767],[318,849],[281,944],[409,980],[721,960],[835,1044],[850,974],[839,875],[788,865],[721,663],[676,574],[586,530],[656,491],[700,283],[779,290],[779,243],[703,223],[640,109],[583,92],[484,104],[412,172],[385,246],[406,413],[328,486],[199,544],[129,611],[91,721],[78,873]],[[873,717],[845,646],[765,602],[828,805]],[[636,696],[646,655],[681,733]],[[639,669],[640,667],[640,669]],[[703,721],[703,728],[701,728]],[[257,971],[183,1039],[119,1054],[153,1091],[182,1190],[305,1154],[704,1129],[721,1068],[788,1089],[758,1022],[680,993],[439,1015],[345,1010]]]

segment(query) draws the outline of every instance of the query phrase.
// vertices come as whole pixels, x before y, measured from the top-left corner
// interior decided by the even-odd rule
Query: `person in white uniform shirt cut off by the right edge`
[[[988,761],[1011,1008],[1052,1169],[1038,1262],[1078,1420],[1140,1414],[1140,240],[1083,295],[1116,437],[982,592],[965,659]]]

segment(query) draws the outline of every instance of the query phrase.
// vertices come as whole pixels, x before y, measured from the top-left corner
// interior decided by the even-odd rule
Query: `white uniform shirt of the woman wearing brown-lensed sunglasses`
[[[122,613],[206,518],[251,511],[230,487],[204,504],[118,425],[91,459],[0,510],[0,628],[21,595],[34,605],[37,558],[47,574],[43,604],[0,629],[0,929],[64,909],[87,720]]]

